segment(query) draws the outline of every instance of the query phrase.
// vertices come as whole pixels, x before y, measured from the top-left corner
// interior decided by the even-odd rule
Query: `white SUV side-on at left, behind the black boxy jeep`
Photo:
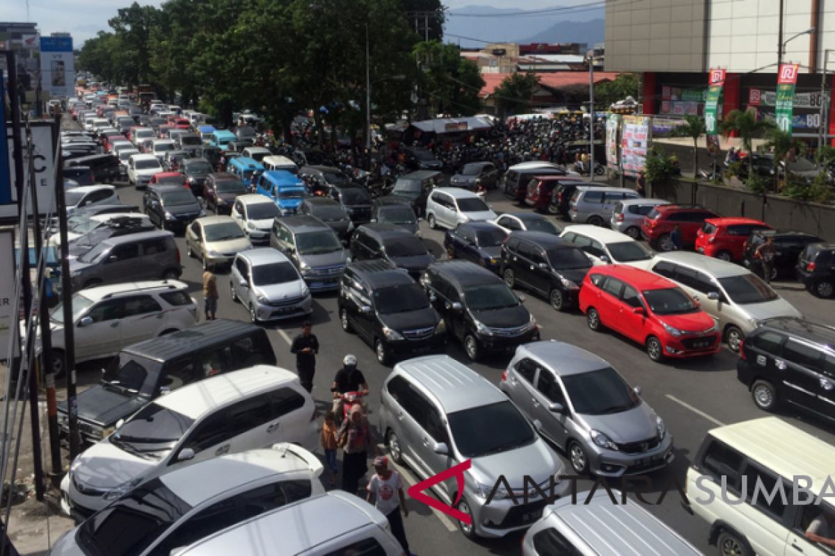
[[[118,355],[124,346],[191,328],[197,303],[177,280],[116,283],[73,293],[75,362]],[[63,303],[49,316],[52,369],[63,374]],[[38,335],[38,345],[41,338]]]

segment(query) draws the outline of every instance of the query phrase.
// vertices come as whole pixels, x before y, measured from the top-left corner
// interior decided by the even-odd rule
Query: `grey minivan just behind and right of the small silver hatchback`
[[[339,289],[348,255],[326,223],[312,216],[276,218],[270,245],[290,258],[311,291]]]

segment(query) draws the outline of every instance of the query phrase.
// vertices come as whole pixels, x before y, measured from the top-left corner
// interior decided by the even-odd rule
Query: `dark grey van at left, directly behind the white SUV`
[[[130,280],[180,278],[180,251],[174,234],[154,230],[109,238],[69,261],[73,289]]]

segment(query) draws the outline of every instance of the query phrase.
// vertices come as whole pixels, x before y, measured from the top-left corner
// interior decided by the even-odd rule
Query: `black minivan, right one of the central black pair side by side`
[[[472,361],[486,351],[514,353],[539,339],[534,316],[487,268],[468,261],[438,261],[420,279],[447,332],[463,342]]]

